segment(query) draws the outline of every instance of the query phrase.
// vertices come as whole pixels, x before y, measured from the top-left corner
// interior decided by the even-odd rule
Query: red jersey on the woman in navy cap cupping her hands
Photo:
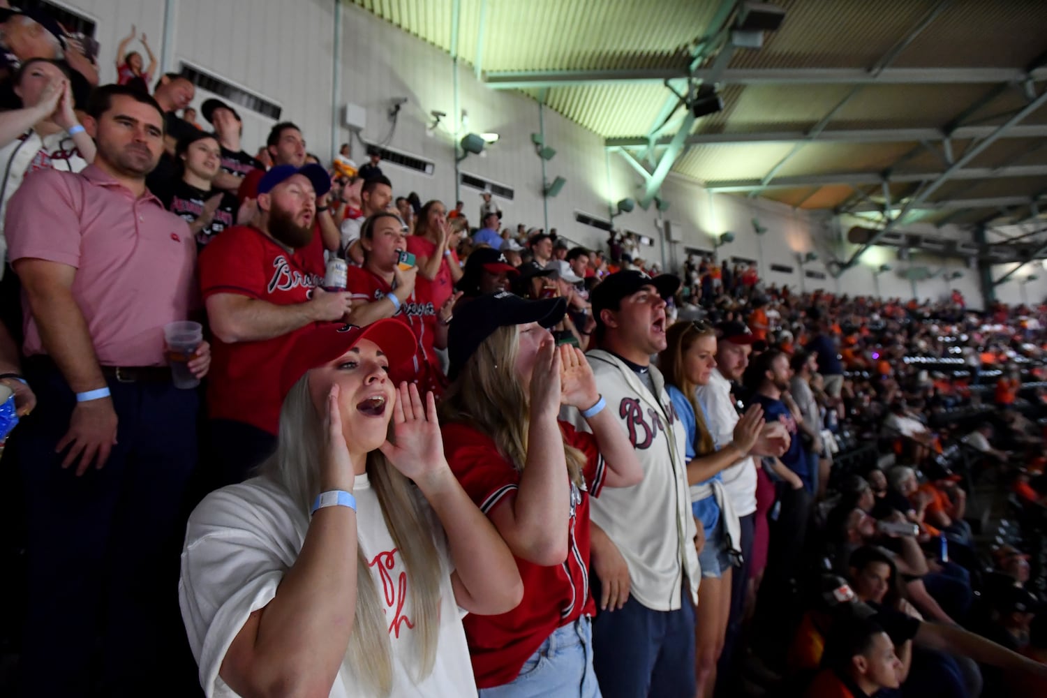
[[[584,489],[571,483],[571,519],[567,525],[567,559],[543,567],[516,558],[524,580],[524,600],[502,615],[475,615],[463,620],[476,686],[490,689],[516,678],[524,662],[554,630],[596,613],[588,588],[589,496],[599,497],[604,481],[604,461],[591,433],[576,431],[560,422],[563,441],[585,454]],[[465,424],[441,426],[447,463],[462,488],[484,514],[519,488],[520,474],[506,460],[494,441]]]

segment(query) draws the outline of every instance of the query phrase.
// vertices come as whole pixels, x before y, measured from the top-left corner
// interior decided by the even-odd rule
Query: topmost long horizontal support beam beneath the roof
[[[687,77],[681,68],[639,70],[522,70],[489,71],[484,83],[496,90],[537,87],[576,87],[599,83],[662,83]],[[734,68],[719,76],[711,69],[696,70],[703,82],[719,85],[979,85],[1047,80],[1047,68],[1026,72],[1021,68],[886,68],[878,73],[864,68]]]

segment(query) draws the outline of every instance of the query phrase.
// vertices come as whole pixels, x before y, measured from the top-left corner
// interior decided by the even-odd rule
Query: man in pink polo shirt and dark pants
[[[26,177],[5,225],[39,400],[17,435],[28,518],[22,669],[36,696],[120,695],[175,673],[181,506],[197,458],[197,392],[172,384],[163,340],[194,305],[196,243],[146,188],[163,114],[117,85],[98,88],[88,114],[94,164]],[[202,377],[206,342],[196,357]]]

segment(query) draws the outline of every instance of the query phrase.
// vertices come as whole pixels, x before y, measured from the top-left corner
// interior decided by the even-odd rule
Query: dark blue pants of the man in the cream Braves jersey
[[[600,579],[589,575],[593,598]],[[655,611],[629,595],[617,611],[600,611],[593,621],[593,669],[605,698],[693,696],[694,606],[684,581],[682,606]]]

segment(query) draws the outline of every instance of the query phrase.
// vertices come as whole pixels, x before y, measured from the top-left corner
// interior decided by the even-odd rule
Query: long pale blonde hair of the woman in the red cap
[[[259,472],[283,488],[307,515],[312,500],[319,494],[324,438],[322,420],[313,406],[307,378],[303,377],[291,388],[281,408],[276,452],[262,464]],[[432,524],[421,508],[414,486],[380,451],[367,454],[367,475],[378,495],[385,525],[410,576],[415,614],[411,621],[420,649],[415,679],[421,681],[432,673],[440,631],[442,570],[430,534]],[[372,692],[387,696],[393,690],[392,652],[384,606],[371,576],[369,560],[357,546],[356,620],[342,661]]]

